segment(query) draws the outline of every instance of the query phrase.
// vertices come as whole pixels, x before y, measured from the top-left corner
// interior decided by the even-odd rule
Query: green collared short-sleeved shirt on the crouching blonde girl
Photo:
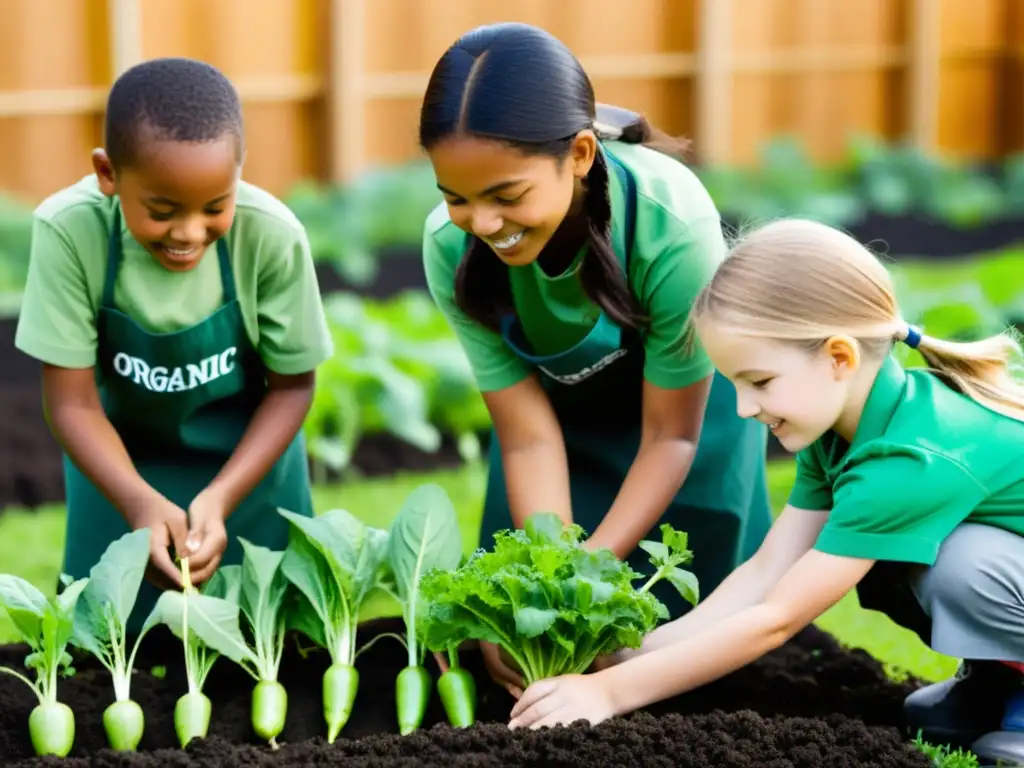
[[[828,514],[815,549],[932,565],[962,522],[1024,536],[1024,423],[887,358],[851,444],[797,456],[790,504]]]

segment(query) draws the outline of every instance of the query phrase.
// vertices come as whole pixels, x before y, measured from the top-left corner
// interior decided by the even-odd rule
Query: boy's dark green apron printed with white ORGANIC
[[[241,441],[266,393],[265,372],[246,334],[223,238],[217,241],[223,304],[206,319],[172,333],[150,333],[115,306],[122,258],[118,208],[96,321],[96,385],[103,410],[139,474],[187,512]],[[108,545],[130,528],[67,455],[63,464],[68,506],[63,569],[81,578],[88,575]],[[242,562],[240,536],[284,549],[288,522],[278,507],[313,514],[301,431],[227,518],[228,544],[221,564]],[[143,582],[130,632],[141,628],[159,595],[157,588]]]

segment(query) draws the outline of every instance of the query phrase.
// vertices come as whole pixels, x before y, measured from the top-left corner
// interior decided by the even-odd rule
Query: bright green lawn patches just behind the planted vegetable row
[[[772,462],[769,483],[774,509],[781,510],[793,480],[792,461]],[[436,482],[449,493],[459,512],[465,550],[468,553],[475,549],[484,493],[484,473],[479,465],[316,487],[314,501],[318,511],[344,507],[372,525],[386,527],[404,497],[422,482]],[[63,517],[62,506],[4,511],[0,515],[0,571],[19,575],[45,593],[52,593],[63,551]],[[395,606],[386,599],[372,603],[367,610],[368,615],[394,612]],[[915,635],[884,614],[863,610],[853,593],[822,615],[817,625],[847,646],[863,648],[882,660],[895,678],[909,674],[925,680],[941,680],[956,667],[956,659],[933,652]],[[7,616],[0,616],[0,643],[16,638]]]

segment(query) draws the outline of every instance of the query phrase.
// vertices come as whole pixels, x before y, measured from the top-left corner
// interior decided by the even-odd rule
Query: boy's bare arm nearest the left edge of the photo
[[[103,413],[93,369],[44,365],[43,404],[57,442],[129,523],[136,511],[162,499],[136,471]]]

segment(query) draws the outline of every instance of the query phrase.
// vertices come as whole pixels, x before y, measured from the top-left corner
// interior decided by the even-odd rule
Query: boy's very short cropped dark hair
[[[242,157],[242,103],[216,67],[193,58],[154,58],[126,70],[106,99],[104,143],[116,168],[138,159],[145,127],[162,139],[214,141],[230,133]]]

